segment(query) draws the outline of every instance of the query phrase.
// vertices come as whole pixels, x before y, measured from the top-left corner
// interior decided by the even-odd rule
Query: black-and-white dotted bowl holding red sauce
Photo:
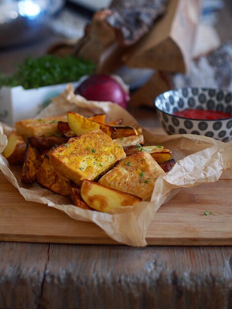
[[[169,90],[155,98],[155,107],[168,134],[204,135],[222,142],[232,140],[232,93],[227,90],[197,87]],[[174,115],[187,109],[225,112],[231,117],[208,120]]]

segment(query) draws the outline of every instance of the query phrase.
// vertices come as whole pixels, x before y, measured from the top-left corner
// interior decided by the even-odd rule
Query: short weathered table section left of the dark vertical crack
[[[0,242],[1,309],[38,308],[48,248],[48,244]]]

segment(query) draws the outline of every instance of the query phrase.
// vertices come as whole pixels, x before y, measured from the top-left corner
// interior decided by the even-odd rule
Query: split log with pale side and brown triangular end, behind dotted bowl
[[[170,0],[165,15],[123,56],[127,66],[188,72],[201,0]]]

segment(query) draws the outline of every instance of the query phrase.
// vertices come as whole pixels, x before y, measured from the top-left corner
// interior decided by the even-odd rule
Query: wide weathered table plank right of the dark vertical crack
[[[231,271],[229,247],[51,245],[42,308],[231,309]]]

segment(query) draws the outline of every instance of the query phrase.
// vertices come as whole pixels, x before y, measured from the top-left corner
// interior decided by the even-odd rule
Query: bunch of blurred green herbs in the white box
[[[15,74],[8,77],[0,76],[0,87],[21,85],[24,89],[31,89],[77,81],[84,75],[93,74],[95,69],[96,66],[91,61],[74,56],[28,57],[18,66]]]

